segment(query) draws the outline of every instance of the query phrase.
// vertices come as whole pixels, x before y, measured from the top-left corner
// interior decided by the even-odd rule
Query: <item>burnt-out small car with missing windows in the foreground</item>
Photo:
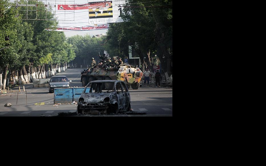
[[[86,93],[87,87],[90,91]],[[130,94],[126,84],[120,80],[96,80],[89,82],[78,99],[77,113],[101,114],[130,111]]]

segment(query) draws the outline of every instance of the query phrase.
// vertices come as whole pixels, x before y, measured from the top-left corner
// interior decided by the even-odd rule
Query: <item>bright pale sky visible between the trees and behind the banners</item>
[[[15,1],[15,0],[10,0]],[[90,19],[88,18],[88,9],[82,9],[82,10],[58,10],[57,5],[82,5],[86,4],[88,2],[106,2],[104,0],[39,0],[42,1],[44,4],[50,4],[50,5],[56,5],[56,7],[52,7],[52,9],[56,12],[56,17],[59,22],[59,27],[68,27],[68,26],[75,26],[75,27],[82,27],[82,26],[88,26],[88,25],[94,25],[91,20],[96,19]],[[110,1],[110,0],[107,0]],[[113,0],[112,1],[112,12],[113,17],[115,18],[116,15],[119,15],[118,6],[125,3],[125,0]],[[118,20],[119,21],[119,20]],[[120,20],[121,21],[121,20]],[[119,22],[120,22],[119,21]],[[95,21],[94,21],[95,22]],[[102,21],[102,24],[108,23],[107,21]],[[98,23],[100,25],[100,23]],[[89,31],[64,31],[66,37],[70,37],[73,35],[97,35],[106,33],[108,29],[101,29],[101,30],[89,30]]]

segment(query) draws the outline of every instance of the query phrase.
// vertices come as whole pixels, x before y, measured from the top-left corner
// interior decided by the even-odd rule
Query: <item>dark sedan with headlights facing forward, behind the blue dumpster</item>
[[[54,92],[54,88],[69,88],[71,80],[68,80],[66,76],[53,76],[49,83],[49,93]]]

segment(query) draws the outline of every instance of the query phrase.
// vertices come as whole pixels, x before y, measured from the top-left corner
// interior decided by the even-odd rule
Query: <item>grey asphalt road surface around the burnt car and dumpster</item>
[[[72,80],[70,86],[81,87],[80,71],[82,69],[68,69],[58,75],[64,75]],[[59,112],[76,112],[76,104],[54,104],[53,93],[49,94],[47,88],[33,88],[33,84],[23,85],[21,92],[8,92],[0,95],[0,116],[57,116]],[[19,87],[12,88],[18,90]],[[105,116],[172,116],[173,92],[172,89],[163,87],[140,87],[138,90],[129,89],[131,97],[131,108],[135,112],[146,113],[136,115],[105,115]],[[18,98],[18,101],[17,101]],[[17,102],[17,103],[16,103]],[[36,103],[44,102],[44,105]],[[11,103],[11,107],[5,107],[6,103]],[[95,116],[95,115],[92,115]],[[101,115],[103,116],[103,115]]]

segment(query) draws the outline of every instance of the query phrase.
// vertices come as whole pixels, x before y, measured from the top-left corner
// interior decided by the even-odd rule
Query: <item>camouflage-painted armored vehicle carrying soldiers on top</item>
[[[84,69],[84,71],[81,71],[80,82],[82,82],[82,86],[86,86],[88,82],[94,80],[121,80],[128,86],[128,89],[130,86],[132,89],[138,89],[140,87],[142,75],[143,73],[140,68],[128,64],[125,64],[125,66],[118,66],[116,68],[102,68],[102,64],[100,63],[90,70]],[[108,82],[102,86],[104,86],[102,89],[105,88],[106,90],[110,90],[112,88]]]

